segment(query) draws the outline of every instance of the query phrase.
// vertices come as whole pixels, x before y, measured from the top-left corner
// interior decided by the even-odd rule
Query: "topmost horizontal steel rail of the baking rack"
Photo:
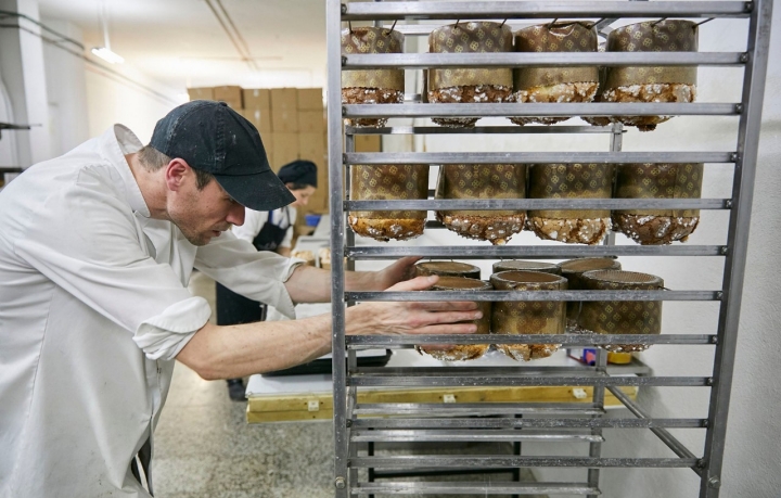
[[[504,20],[594,17],[745,17],[752,2],[355,2],[342,4],[342,21]]]

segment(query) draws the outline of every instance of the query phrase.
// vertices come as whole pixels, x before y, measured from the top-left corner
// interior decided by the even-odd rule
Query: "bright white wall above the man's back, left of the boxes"
[[[0,7],[38,16],[35,0],[0,0]],[[41,22],[81,41],[80,29],[71,23]],[[20,24],[39,33],[28,21]],[[5,165],[14,162],[26,167],[61,155],[115,123],[129,126],[148,142],[157,119],[185,101],[184,88],[166,88],[131,66],[85,59],[72,43],[63,42],[61,48],[16,29],[0,29],[0,78],[8,94],[0,111],[7,120],[38,125],[30,131],[3,133],[0,161]]]

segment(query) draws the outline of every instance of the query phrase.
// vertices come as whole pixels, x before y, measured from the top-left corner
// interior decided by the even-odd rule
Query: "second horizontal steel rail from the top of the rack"
[[[518,66],[742,66],[745,52],[383,53],[343,55],[346,71]],[[525,105],[525,104],[524,104]]]

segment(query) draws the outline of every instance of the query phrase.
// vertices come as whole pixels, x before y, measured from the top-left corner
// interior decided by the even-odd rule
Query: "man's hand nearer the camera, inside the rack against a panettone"
[[[406,267],[417,260],[405,259],[412,259]],[[418,277],[387,291],[424,291],[437,280],[435,276]],[[348,308],[345,321],[348,335],[470,334],[477,331],[477,325],[469,321],[482,316],[477,303],[471,301],[372,302]]]

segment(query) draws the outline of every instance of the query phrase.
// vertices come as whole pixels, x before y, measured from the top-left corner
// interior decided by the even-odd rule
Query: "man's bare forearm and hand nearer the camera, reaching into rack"
[[[436,277],[404,281],[388,291],[422,291]],[[364,303],[346,310],[348,335],[408,335],[474,333],[481,318],[473,302]],[[177,359],[204,379],[235,379],[318,358],[331,350],[331,316],[292,321],[246,323],[199,330]]]

